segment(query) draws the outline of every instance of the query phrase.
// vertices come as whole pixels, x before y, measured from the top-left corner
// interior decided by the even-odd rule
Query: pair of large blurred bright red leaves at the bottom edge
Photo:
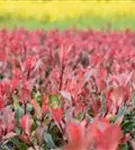
[[[110,124],[105,119],[95,120],[89,126],[85,124],[69,123],[67,125],[68,144],[65,150],[117,150],[123,137],[122,130],[117,123]]]

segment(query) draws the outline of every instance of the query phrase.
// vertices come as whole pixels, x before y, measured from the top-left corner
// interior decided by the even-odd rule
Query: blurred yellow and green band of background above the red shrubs
[[[135,1],[0,0],[0,27],[135,29]]]

